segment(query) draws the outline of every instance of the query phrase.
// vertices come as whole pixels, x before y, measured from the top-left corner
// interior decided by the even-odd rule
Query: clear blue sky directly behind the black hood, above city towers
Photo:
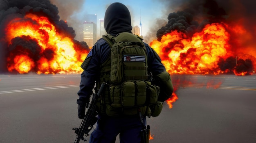
[[[152,23],[153,17],[157,18],[162,16],[162,11],[154,10],[154,8],[162,6],[163,4],[157,0],[148,0],[147,2],[143,0],[86,0],[83,4],[83,13],[96,14],[99,21],[99,19],[104,19],[107,7],[113,2],[121,2],[126,5],[131,14],[132,27],[140,26],[141,23],[145,34],[150,28],[150,23]]]

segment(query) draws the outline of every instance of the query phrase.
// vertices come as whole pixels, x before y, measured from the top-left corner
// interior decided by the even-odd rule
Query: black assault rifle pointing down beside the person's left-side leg
[[[92,102],[90,103],[89,108],[88,108],[88,106],[86,106],[86,108],[88,108],[88,110],[85,114],[85,117],[82,120],[80,127],[72,129],[76,133],[76,140],[74,143],[79,143],[80,140],[87,141],[83,136],[84,135],[86,137],[89,136],[90,134],[88,134],[88,133],[90,132],[90,130],[92,130],[94,124],[97,122],[96,116],[98,115],[98,111],[97,111],[96,102],[97,102],[97,99],[99,98],[99,96],[101,95],[101,92],[105,88],[105,85],[106,85],[106,83],[103,82],[101,84],[101,87],[100,87],[99,91],[97,92],[97,94],[93,93]]]

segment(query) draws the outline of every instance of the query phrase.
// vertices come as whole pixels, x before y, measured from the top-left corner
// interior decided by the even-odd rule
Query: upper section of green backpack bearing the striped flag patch
[[[126,80],[147,80],[147,61],[146,47],[141,38],[128,32],[120,33],[111,47],[110,80],[115,84]]]

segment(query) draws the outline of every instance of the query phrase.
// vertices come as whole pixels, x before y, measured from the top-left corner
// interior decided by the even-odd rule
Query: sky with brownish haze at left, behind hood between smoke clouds
[[[67,0],[66,0],[67,1]],[[104,19],[105,11],[107,7],[113,2],[121,2],[125,4],[131,14],[132,27],[140,26],[142,24],[142,35],[146,35],[150,31],[150,28],[156,25],[156,21],[158,18],[164,18],[167,20],[167,14],[163,14],[164,2],[162,0],[148,0],[145,2],[144,0],[75,0],[74,2],[81,2],[81,4],[73,4],[74,11],[67,11],[67,4],[63,4],[58,2],[58,0],[53,0],[53,3],[59,9],[60,18],[63,20],[67,20],[69,26],[73,27],[76,32],[76,39],[82,40],[83,33],[81,30],[83,28],[84,15],[87,14],[96,14],[97,15],[97,31],[99,31],[100,25],[99,20]],[[70,1],[67,1],[70,2]],[[66,13],[71,13],[67,15]],[[157,27],[158,29],[161,26]],[[156,31],[155,31],[156,32]],[[98,33],[98,32],[97,32]],[[99,33],[97,35],[100,35]],[[80,36],[80,38],[79,38]]]

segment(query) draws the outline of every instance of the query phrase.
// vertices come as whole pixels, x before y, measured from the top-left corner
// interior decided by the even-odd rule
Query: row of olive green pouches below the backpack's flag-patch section
[[[110,103],[106,107],[106,113],[116,116],[119,112],[124,115],[137,114],[141,108],[142,114],[146,112],[146,94],[148,83],[144,80],[128,80],[121,85],[110,85]],[[119,108],[119,109],[118,109]]]

